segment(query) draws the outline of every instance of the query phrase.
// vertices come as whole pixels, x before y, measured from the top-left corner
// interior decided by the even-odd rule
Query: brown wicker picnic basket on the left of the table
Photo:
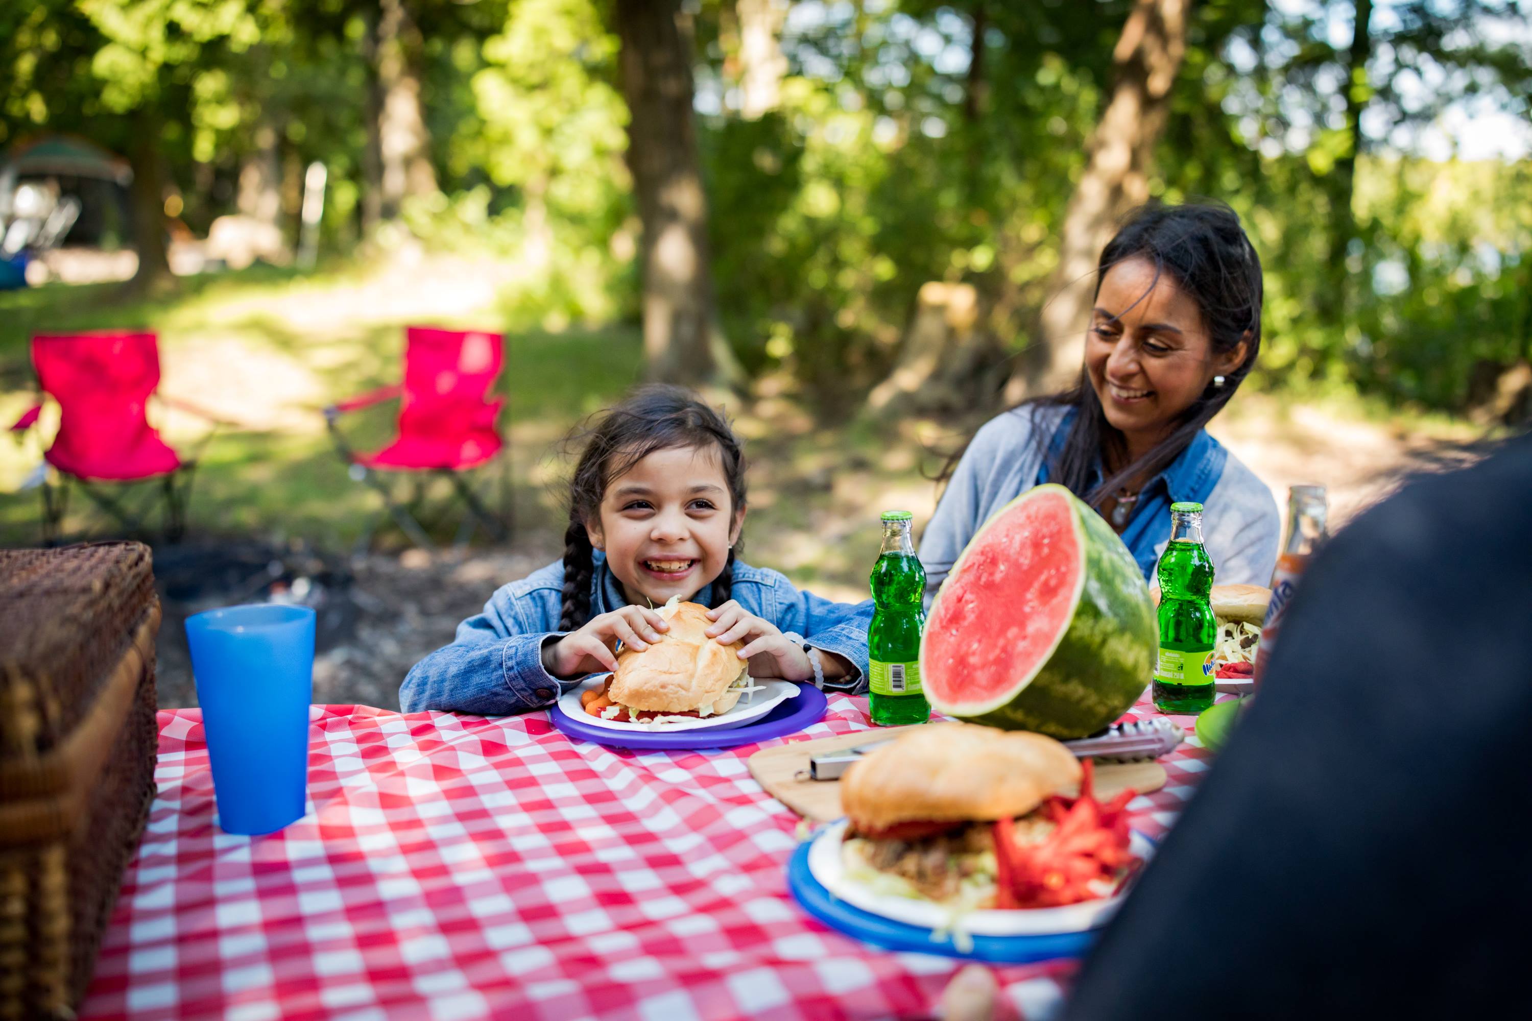
[[[149,548],[0,550],[0,1018],[72,1018],[155,798]]]

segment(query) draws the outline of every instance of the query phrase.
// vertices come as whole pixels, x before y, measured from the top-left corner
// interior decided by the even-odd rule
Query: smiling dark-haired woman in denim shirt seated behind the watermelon
[[[1206,426],[1261,349],[1261,259],[1226,205],[1147,205],[1102,251],[1074,389],[987,422],[921,542],[928,592],[996,510],[1059,482],[1123,537],[1144,577],[1175,501],[1204,504],[1218,580],[1264,585],[1279,517],[1270,490]]]

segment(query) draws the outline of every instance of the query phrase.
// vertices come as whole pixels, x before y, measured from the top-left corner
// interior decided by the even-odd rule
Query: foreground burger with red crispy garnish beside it
[[[1089,761],[1082,767],[1040,733],[912,729],[841,781],[846,876],[959,911],[1109,897],[1137,865],[1126,813],[1134,791],[1102,805],[1089,788]]]

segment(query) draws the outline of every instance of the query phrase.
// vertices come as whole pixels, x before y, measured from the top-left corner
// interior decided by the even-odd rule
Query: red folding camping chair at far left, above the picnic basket
[[[185,505],[192,494],[196,459],[182,459],[149,424],[149,398],[159,386],[159,346],[155,335],[118,331],[38,334],[32,337],[32,366],[41,392],[58,401],[61,413],[58,435],[43,455],[60,476],[57,487],[43,479],[43,542],[52,543],[58,536],[70,479],[129,531],[142,528],[142,514],[126,507],[100,484],[161,481],[165,537],[172,542],[179,539],[185,531]],[[214,427],[222,424],[216,416],[184,401],[164,395],[159,400],[201,415]],[[11,432],[25,433],[37,424],[41,412],[43,403],[38,400]]]

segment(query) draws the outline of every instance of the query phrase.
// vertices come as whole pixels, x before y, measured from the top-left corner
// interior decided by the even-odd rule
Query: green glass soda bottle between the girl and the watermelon
[[[867,710],[882,727],[931,718],[931,704],[921,690],[925,568],[915,556],[912,520],[910,511],[884,511],[882,550],[870,579],[878,609],[867,628],[867,658],[872,661]]]

